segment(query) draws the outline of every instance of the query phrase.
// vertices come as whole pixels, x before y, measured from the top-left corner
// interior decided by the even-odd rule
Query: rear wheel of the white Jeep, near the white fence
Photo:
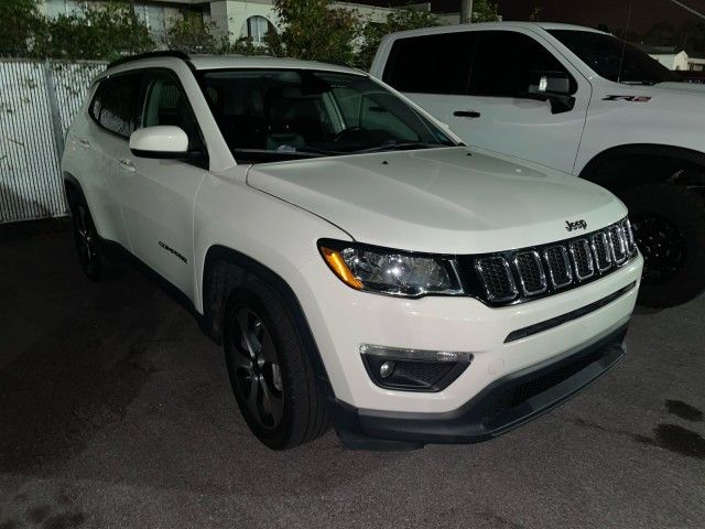
[[[82,270],[94,281],[113,277],[119,268],[106,256],[88,206],[75,195],[69,197],[69,205],[76,253]]]

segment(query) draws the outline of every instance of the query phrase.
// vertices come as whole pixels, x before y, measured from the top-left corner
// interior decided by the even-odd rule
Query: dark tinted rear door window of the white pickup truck
[[[476,32],[468,31],[399,39],[382,80],[400,91],[467,94],[476,42]]]

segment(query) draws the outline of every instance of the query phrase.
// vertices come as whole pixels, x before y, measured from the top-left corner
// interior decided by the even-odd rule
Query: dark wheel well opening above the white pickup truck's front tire
[[[610,191],[661,182],[705,186],[705,153],[658,143],[618,145],[596,154],[579,176]]]

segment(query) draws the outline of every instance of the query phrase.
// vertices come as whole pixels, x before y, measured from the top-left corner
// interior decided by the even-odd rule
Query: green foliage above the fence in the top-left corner
[[[0,0],[0,55],[28,55],[43,19],[36,0]]]

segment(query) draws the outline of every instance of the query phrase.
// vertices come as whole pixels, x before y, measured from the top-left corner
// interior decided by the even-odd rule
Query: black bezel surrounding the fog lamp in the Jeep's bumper
[[[373,344],[361,344],[359,347],[362,364],[372,382],[382,388],[395,391],[438,392],[453,384],[473,363],[474,355],[468,352],[410,349]],[[437,378],[429,381],[398,379],[393,375],[382,377],[380,366],[386,361],[394,363],[394,370],[413,364],[432,364],[448,366]]]

